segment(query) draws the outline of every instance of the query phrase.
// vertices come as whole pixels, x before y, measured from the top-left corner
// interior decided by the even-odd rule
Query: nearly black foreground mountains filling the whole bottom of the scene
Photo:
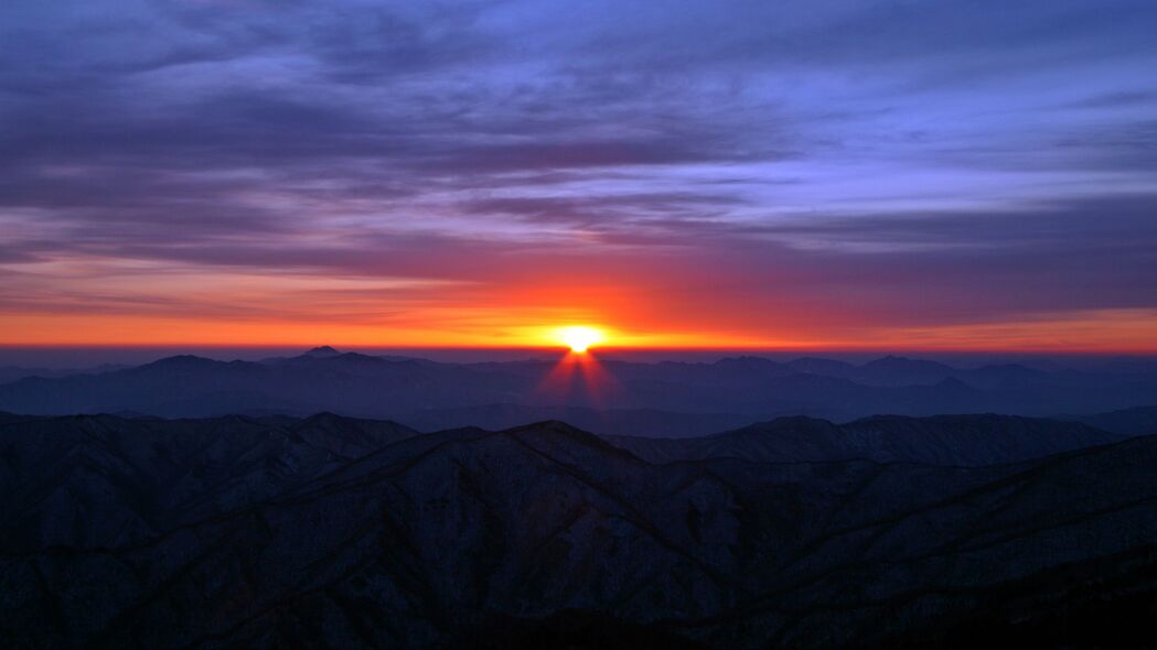
[[[1148,626],[1157,438],[975,416],[647,445],[559,422],[3,416],[0,637],[1041,647]]]

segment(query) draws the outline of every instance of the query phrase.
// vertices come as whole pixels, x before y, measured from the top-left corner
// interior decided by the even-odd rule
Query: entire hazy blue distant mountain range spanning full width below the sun
[[[566,378],[558,360],[436,363],[333,348],[260,362],[175,356],[135,368],[19,378],[0,384],[0,411],[162,418],[330,411],[419,430],[500,429],[555,419],[599,434],[670,437],[781,415],[835,421],[877,413],[1054,416],[1157,404],[1157,368],[1143,364],[1098,372],[1015,364],[960,369],[901,357],[863,364],[750,356],[714,363],[603,359],[598,364],[592,372],[572,368]],[[589,375],[596,379],[588,385]]]

